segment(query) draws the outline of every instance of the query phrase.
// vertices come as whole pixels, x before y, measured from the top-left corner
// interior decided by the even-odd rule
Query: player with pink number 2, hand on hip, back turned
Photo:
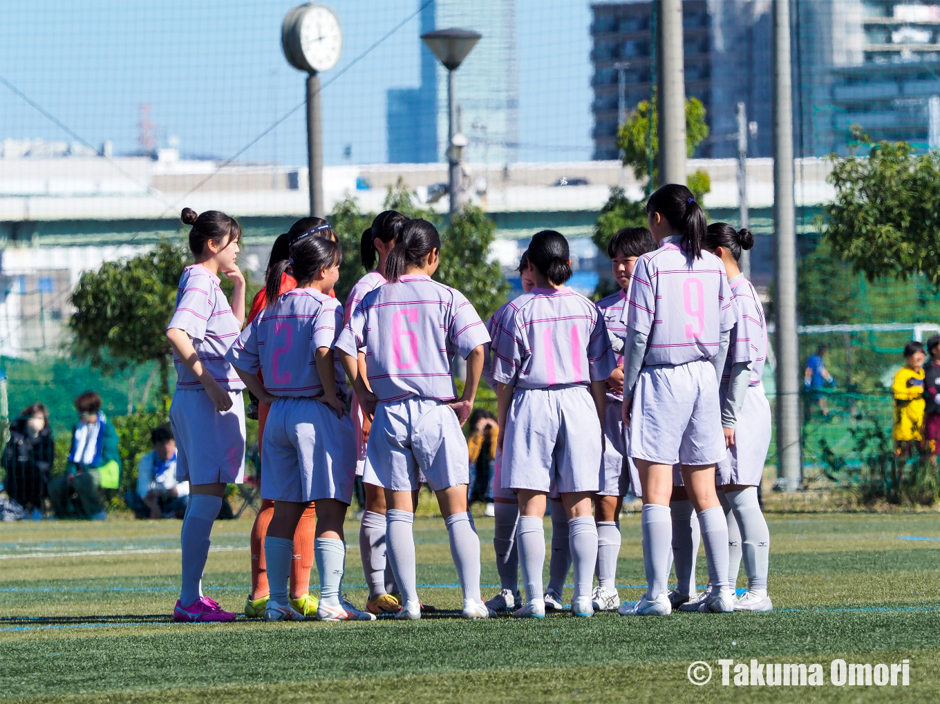
[[[342,250],[313,227],[290,240],[290,259],[274,265],[267,306],[228,350],[226,359],[259,400],[271,406],[264,433],[261,496],[274,501],[264,539],[271,587],[264,618],[303,620],[288,599],[293,538],[305,509],[317,502],[314,555],[320,572],[317,619],[374,620],[341,596],[346,563],[343,519],[355,478],[354,430],[346,412],[342,368],[333,348],[342,305],[328,292],[339,277]],[[297,288],[280,294],[288,271]],[[268,373],[258,380],[258,369]]]

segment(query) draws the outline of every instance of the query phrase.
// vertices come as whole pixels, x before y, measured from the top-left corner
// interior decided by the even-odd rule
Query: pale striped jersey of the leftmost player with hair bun
[[[219,277],[200,264],[182,270],[177,289],[176,310],[166,329],[177,328],[190,336],[196,356],[212,375],[212,379],[229,391],[241,391],[244,383],[235,369],[226,361],[226,352],[238,337],[239,324],[226,294],[219,288]],[[173,364],[177,370],[177,388],[203,388],[176,353]]]

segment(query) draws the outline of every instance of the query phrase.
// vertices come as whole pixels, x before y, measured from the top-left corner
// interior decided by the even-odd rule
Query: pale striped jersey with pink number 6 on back
[[[366,375],[382,401],[420,397],[452,400],[454,354],[463,358],[490,341],[473,305],[457,289],[406,274],[366,294],[337,348],[366,352]]]

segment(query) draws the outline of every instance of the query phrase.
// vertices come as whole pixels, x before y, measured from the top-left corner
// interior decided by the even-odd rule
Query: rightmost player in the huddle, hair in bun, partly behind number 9
[[[747,229],[727,223],[708,227],[705,248],[725,262],[728,283],[738,308],[738,323],[731,333],[731,347],[722,380],[722,426],[728,444],[718,462],[718,498],[728,518],[729,577],[737,587],[744,553],[747,592],[734,602],[735,611],[771,611],[767,596],[770,531],[758,502],[758,487],[770,447],[770,403],[760,383],[767,359],[767,322],[763,306],[750,281],[738,268],[741,252],[754,245]]]

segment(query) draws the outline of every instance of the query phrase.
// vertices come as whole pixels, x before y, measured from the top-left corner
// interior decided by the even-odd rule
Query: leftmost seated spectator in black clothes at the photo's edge
[[[34,521],[41,521],[45,512],[54,459],[49,409],[41,403],[26,406],[9,425],[9,440],[0,466],[7,471],[8,496]]]

